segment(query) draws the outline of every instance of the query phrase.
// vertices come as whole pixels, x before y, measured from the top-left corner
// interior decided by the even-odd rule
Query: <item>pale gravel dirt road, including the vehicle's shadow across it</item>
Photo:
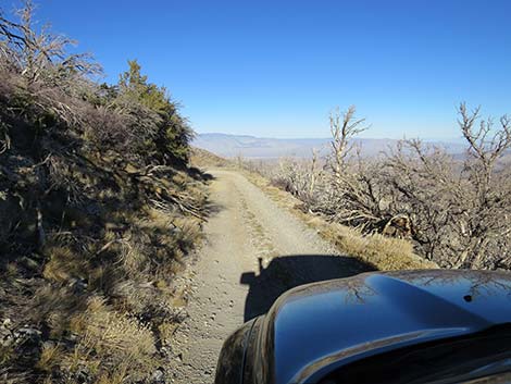
[[[189,317],[176,332],[174,383],[211,383],[223,340],[294,286],[361,272],[235,171],[211,171],[207,243],[191,269]]]

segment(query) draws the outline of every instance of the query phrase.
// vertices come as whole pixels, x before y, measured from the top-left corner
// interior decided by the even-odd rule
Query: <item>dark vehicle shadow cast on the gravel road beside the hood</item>
[[[292,255],[271,260],[264,267],[259,259],[259,274],[245,272],[240,283],[249,285],[245,301],[245,321],[267,312],[286,290],[299,285],[349,277],[375,268],[361,260],[336,255]]]

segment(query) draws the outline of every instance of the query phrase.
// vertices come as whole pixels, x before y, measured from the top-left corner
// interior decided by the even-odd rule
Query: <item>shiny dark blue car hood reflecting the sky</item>
[[[261,326],[259,366],[265,382],[309,383],[364,357],[508,322],[509,273],[364,273],[281,296]]]

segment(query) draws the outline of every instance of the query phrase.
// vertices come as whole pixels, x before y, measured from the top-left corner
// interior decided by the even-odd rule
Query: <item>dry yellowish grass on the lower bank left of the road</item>
[[[179,323],[175,314],[186,304],[173,292],[172,281],[202,240],[202,221],[171,206],[163,210],[147,200],[129,200],[129,185],[117,183],[125,190],[105,194],[109,189],[101,184],[86,187],[97,191],[99,201],[114,196],[121,203],[101,206],[98,215],[67,214],[58,222],[64,227],[48,232],[40,261],[32,261],[39,285],[28,302],[16,304],[23,310],[9,317],[21,325],[46,327],[43,340],[49,343],[34,349],[30,362],[24,362],[16,346],[2,348],[0,372],[2,367],[12,371],[3,379],[16,382],[27,372],[23,377],[37,376],[37,382],[74,383],[85,374],[87,382],[135,383],[164,366],[158,348],[171,344]],[[183,171],[162,184],[196,207],[205,203],[204,183]],[[78,220],[80,225],[74,224]],[[25,268],[23,260],[14,260],[4,265],[13,283]]]

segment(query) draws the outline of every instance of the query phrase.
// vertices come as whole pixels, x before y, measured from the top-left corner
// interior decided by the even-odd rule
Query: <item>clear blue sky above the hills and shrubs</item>
[[[9,9],[15,0],[0,0]],[[511,1],[43,0],[38,18],[107,80],[138,59],[199,133],[328,136],[356,104],[365,136],[451,138],[456,106],[511,112]]]

